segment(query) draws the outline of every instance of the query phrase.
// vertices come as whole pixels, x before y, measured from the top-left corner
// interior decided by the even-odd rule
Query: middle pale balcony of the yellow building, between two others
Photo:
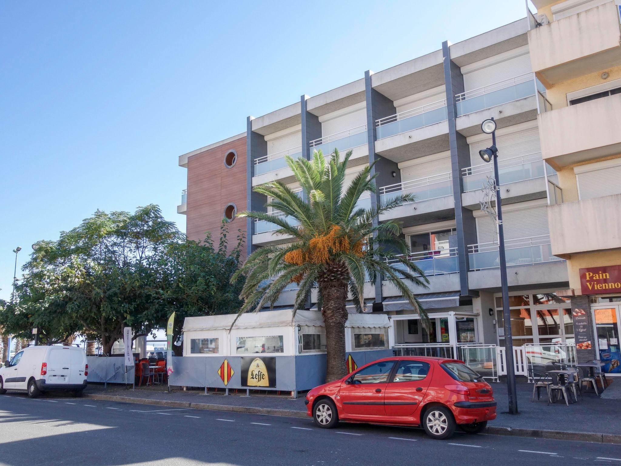
[[[621,152],[621,94],[539,114],[543,159],[558,168]]]

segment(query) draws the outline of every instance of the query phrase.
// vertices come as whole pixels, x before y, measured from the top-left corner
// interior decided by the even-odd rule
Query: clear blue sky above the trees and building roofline
[[[12,249],[19,267],[96,209],[155,203],[184,231],[177,156],[248,115],[524,16],[523,0],[1,2],[0,297]]]

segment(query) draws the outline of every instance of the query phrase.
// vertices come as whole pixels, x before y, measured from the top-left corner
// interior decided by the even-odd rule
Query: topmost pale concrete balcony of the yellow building
[[[614,1],[528,31],[532,69],[546,85],[621,65]]]

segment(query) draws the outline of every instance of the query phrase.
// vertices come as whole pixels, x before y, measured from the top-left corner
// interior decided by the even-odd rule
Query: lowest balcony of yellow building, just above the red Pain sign
[[[552,253],[568,258],[581,252],[621,248],[621,194],[548,207]]]

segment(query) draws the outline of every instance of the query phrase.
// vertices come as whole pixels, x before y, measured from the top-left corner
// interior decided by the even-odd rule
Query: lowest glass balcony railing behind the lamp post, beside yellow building
[[[495,241],[468,245],[470,270],[500,267],[499,247]],[[552,255],[550,235],[505,241],[507,267],[563,260]]]

